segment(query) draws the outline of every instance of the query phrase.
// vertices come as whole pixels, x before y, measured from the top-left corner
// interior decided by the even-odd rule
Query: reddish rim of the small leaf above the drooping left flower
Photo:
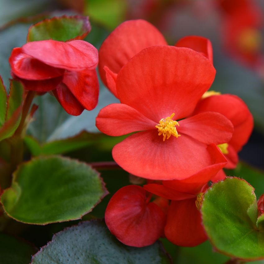
[[[73,16],[67,16],[67,15],[63,15],[63,16],[54,16],[52,18],[45,18],[41,21],[39,21],[38,23],[34,24],[34,25],[31,25],[30,28],[28,29],[28,34],[27,34],[27,42],[30,42],[29,40],[29,32],[31,30],[31,28],[35,27],[35,26],[38,26],[38,25],[41,25],[43,23],[46,23],[46,22],[50,22],[52,20],[59,20],[59,19],[63,19],[63,18],[67,18],[67,19],[79,19],[79,20],[83,20],[84,21],[84,24],[82,26],[82,29],[85,29],[84,33],[79,35],[79,36],[76,36],[75,38],[73,39],[67,39],[66,42],[68,41],[71,41],[71,40],[77,40],[77,39],[84,39],[88,34],[89,32],[91,31],[92,27],[91,27],[91,24],[90,24],[90,20],[89,20],[89,16],[80,16],[80,15],[73,15]]]

